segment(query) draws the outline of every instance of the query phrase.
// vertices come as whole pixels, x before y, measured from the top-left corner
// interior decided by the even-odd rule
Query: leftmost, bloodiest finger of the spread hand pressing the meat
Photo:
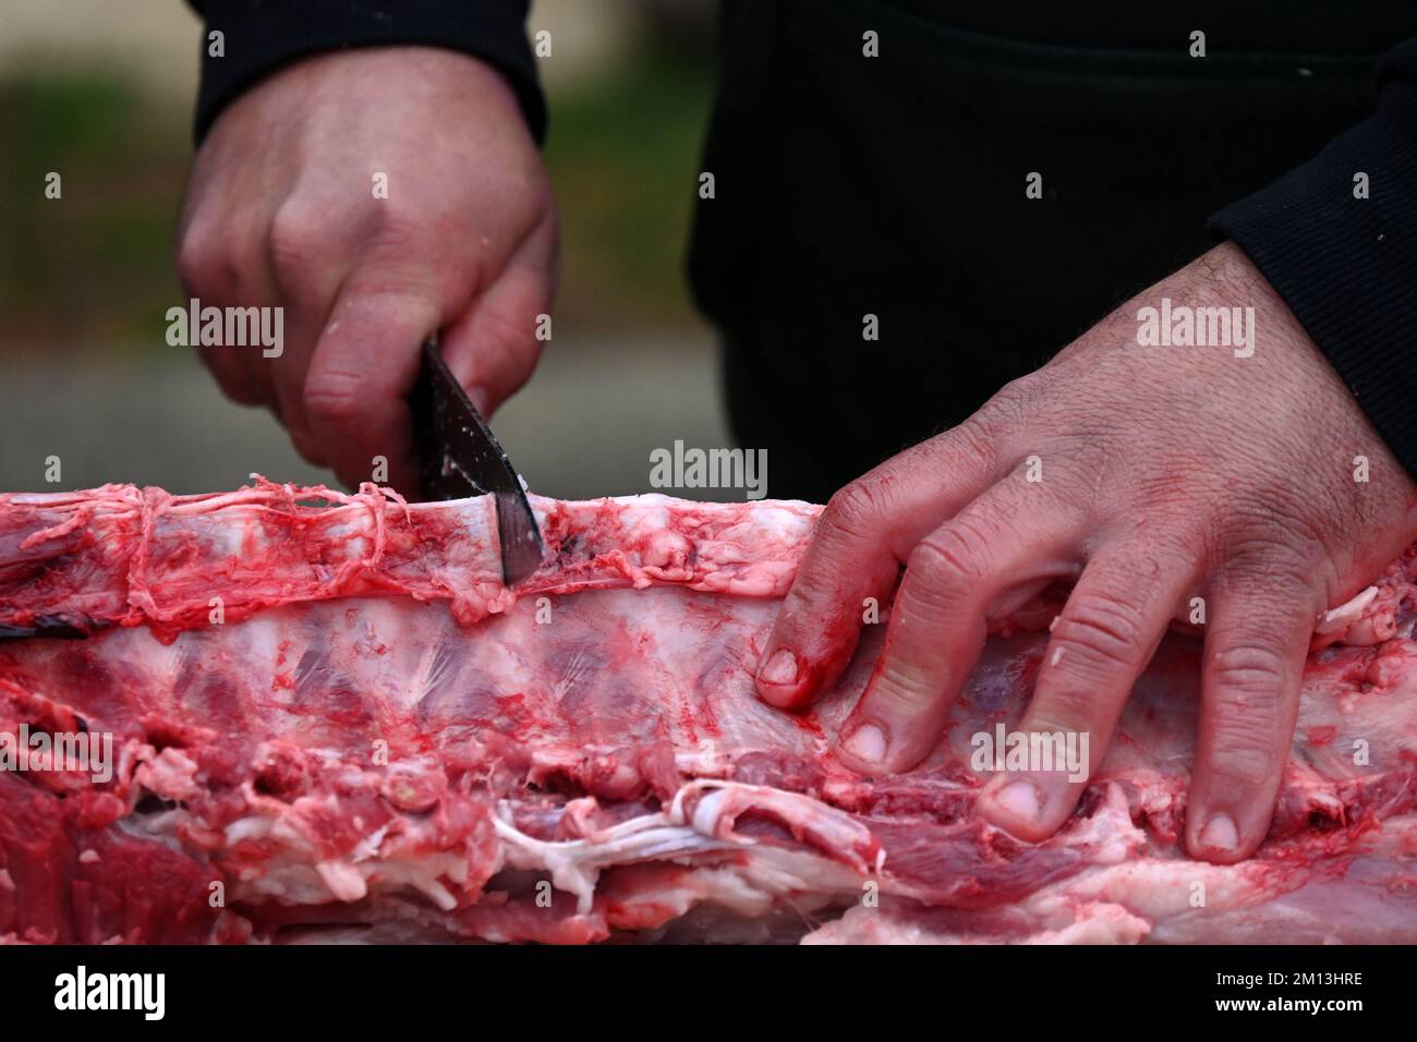
[[[914,546],[998,481],[1002,459],[964,424],[832,496],[764,645],[758,696],[792,709],[828,690],[856,651],[866,600],[886,601]]]

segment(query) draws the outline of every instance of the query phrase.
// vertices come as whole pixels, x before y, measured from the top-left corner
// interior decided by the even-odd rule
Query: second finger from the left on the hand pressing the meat
[[[1010,590],[1077,573],[1078,515],[1023,482],[998,485],[910,554],[886,646],[843,727],[839,754],[869,774],[907,770],[939,740]]]

